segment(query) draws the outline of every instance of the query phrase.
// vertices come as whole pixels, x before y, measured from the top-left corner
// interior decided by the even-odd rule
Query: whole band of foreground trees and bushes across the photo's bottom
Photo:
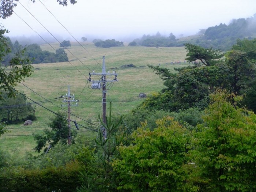
[[[122,118],[109,117],[108,139],[101,134],[94,147],[83,137],[72,146],[58,143],[43,156],[29,155],[18,164],[0,150],[0,189],[255,191],[256,116],[238,107],[242,97],[226,90],[209,98],[203,116],[195,108],[171,113],[190,126],[166,116],[150,127],[145,121],[125,135],[118,131]]]

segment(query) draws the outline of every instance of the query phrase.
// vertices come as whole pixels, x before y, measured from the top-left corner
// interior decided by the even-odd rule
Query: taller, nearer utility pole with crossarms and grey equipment
[[[100,80],[91,80],[91,75],[101,75],[101,79]],[[106,75],[109,76],[114,76],[113,80],[107,80],[106,79]],[[107,139],[107,131],[106,131],[106,83],[107,82],[113,82],[113,81],[118,81],[117,78],[116,71],[113,71],[113,73],[106,73],[106,66],[105,66],[105,56],[102,57],[102,73],[95,73],[93,71],[93,73],[89,73],[89,81],[92,82],[92,89],[101,89],[101,84],[102,84],[102,122],[103,122],[103,126],[101,126],[101,132],[103,135],[103,139],[106,140]]]

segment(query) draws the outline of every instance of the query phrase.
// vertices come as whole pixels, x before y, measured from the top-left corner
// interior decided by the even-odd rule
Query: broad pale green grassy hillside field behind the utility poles
[[[71,42],[71,47],[66,50],[69,62],[34,64],[34,73],[26,78],[25,82],[19,84],[16,89],[26,94],[33,101],[44,101],[46,99],[58,98],[68,92],[70,86],[71,94],[79,99],[78,106],[71,106],[71,120],[79,124],[86,124],[86,121],[97,121],[101,113],[102,92],[93,90],[88,85],[89,72],[102,72],[102,56],[105,56],[106,71],[113,69],[118,73],[118,82],[108,86],[107,102],[112,101],[113,113],[125,114],[135,108],[143,99],[139,98],[140,93],[150,95],[163,88],[163,82],[155,75],[147,64],[165,67],[174,71],[173,68],[184,67],[186,50],[184,47],[155,48],[155,47],[113,47],[96,48],[92,43]],[[54,49],[59,48],[59,43],[51,45]],[[49,45],[42,45],[43,50],[55,52]],[[174,61],[181,61],[181,64],[170,64]],[[136,68],[123,68],[122,65],[133,64]],[[93,80],[99,80],[100,76],[91,76]],[[108,80],[113,77],[107,76]],[[55,99],[52,102],[45,102],[42,106],[37,105],[35,115],[38,120],[33,125],[24,127],[20,125],[8,125],[10,132],[1,136],[0,147],[10,153],[24,155],[26,152],[33,153],[35,142],[33,133],[41,133],[47,127],[50,118],[54,117],[52,112],[65,112],[67,106],[61,107],[63,99]],[[27,102],[32,102],[27,99]],[[107,104],[108,106],[108,104]],[[66,113],[66,112],[65,112]],[[78,118],[79,117],[79,118]],[[84,132],[84,129],[81,129]],[[82,132],[82,131],[81,131]],[[91,133],[88,133],[91,134]],[[12,136],[19,135],[19,136]],[[22,136],[25,135],[25,136]]]

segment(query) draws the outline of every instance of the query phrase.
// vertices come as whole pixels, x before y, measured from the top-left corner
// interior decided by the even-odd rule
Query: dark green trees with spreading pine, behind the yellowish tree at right
[[[239,95],[245,94],[242,103],[255,111],[255,51],[246,48],[254,47],[255,43],[255,39],[239,40],[225,54],[225,60],[219,59],[222,57],[219,50],[186,44],[187,59],[202,60],[204,65],[196,63],[195,66],[179,69],[177,74],[149,65],[164,81],[166,89],[148,97],[138,108],[166,111],[191,107],[204,109],[209,103],[208,95],[216,88],[222,88]]]

